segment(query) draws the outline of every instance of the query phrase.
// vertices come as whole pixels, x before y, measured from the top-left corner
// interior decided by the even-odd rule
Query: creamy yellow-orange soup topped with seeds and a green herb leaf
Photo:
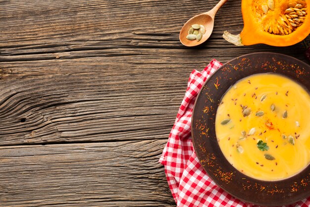
[[[217,109],[215,131],[227,160],[259,180],[291,177],[310,163],[310,95],[276,74],[235,83]]]

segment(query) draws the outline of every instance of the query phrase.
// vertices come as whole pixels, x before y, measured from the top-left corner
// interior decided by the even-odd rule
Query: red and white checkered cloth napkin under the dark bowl
[[[202,71],[193,70],[168,142],[159,162],[164,165],[172,196],[178,207],[256,207],[227,194],[201,166],[191,138],[194,102],[207,78],[222,64],[212,60]],[[310,207],[310,198],[288,207]]]

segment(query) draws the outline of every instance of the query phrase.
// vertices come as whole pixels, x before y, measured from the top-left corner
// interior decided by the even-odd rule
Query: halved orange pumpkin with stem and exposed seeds
[[[224,31],[223,38],[237,46],[294,45],[310,34],[308,5],[310,0],[242,0],[242,32]]]

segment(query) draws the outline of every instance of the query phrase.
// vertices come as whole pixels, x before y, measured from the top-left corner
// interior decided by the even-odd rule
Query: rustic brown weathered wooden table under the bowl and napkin
[[[199,48],[183,23],[216,0],[0,0],[0,206],[175,206],[158,158],[187,80],[235,47],[240,0]]]

